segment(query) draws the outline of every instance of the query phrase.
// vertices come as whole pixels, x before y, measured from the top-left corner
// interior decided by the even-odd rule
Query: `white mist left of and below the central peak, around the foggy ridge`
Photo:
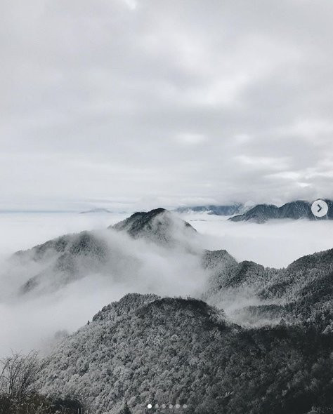
[[[6,222],[2,229],[6,231],[9,245],[1,244],[0,355],[8,354],[10,349],[47,351],[57,331],[76,330],[103,306],[119,300],[126,293],[198,295],[205,282],[205,274],[200,267],[200,255],[196,254],[200,250],[197,240],[190,241],[190,249],[181,245],[166,248],[143,239],[131,239],[124,232],[106,229],[107,225],[120,218],[120,215],[110,218],[110,215],[96,217],[64,213],[1,216],[1,220]],[[50,289],[58,274],[46,272],[41,288],[25,295],[19,293],[20,287],[31,277],[41,274],[54,258],[37,262],[27,253],[22,262],[20,258],[11,256],[14,251],[32,247],[65,232],[91,228],[93,236],[107,243],[110,249],[110,260],[105,267],[98,269],[100,272],[80,258],[79,279],[58,289]],[[4,234],[4,238],[6,236]]]

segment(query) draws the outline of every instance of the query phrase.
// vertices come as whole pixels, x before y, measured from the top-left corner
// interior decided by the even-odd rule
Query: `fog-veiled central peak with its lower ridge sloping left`
[[[197,234],[188,222],[163,208],[134,213],[105,231],[66,234],[15,253],[13,262],[17,269],[22,269],[22,274],[32,273],[20,293],[55,291],[89,274],[126,277],[129,269],[138,268],[140,263],[134,252],[124,249],[125,241],[115,237],[119,233],[162,248],[187,251],[191,251],[193,236]]]

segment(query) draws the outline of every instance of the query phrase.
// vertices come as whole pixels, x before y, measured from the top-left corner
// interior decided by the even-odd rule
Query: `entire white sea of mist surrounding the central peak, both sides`
[[[128,215],[74,213],[1,214],[0,355],[15,349],[47,352],[55,333],[74,330],[108,303],[126,293],[197,296],[207,280],[200,267],[203,248],[226,249],[236,260],[285,267],[302,255],[332,248],[333,222],[271,221],[264,225],[229,222],[207,214],[182,215],[198,231],[188,248],[164,248],[133,240],[106,227]],[[38,263],[24,267],[8,257],[66,233],[92,230],[110,246],[107,272],[91,270],[81,279],[43,294],[17,295],[18,288],[39,272]],[[51,274],[49,277],[56,275]],[[47,283],[46,283],[47,284]]]

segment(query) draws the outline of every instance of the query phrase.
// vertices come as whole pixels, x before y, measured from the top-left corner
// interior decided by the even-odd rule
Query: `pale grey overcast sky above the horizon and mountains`
[[[332,0],[0,8],[0,209],[333,197]]]

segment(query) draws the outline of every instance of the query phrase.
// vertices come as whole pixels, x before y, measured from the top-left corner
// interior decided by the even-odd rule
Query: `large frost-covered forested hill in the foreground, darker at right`
[[[132,413],[329,414],[332,349],[313,326],[244,329],[200,300],[130,294],[55,347],[37,387],[91,414],[124,401]]]

